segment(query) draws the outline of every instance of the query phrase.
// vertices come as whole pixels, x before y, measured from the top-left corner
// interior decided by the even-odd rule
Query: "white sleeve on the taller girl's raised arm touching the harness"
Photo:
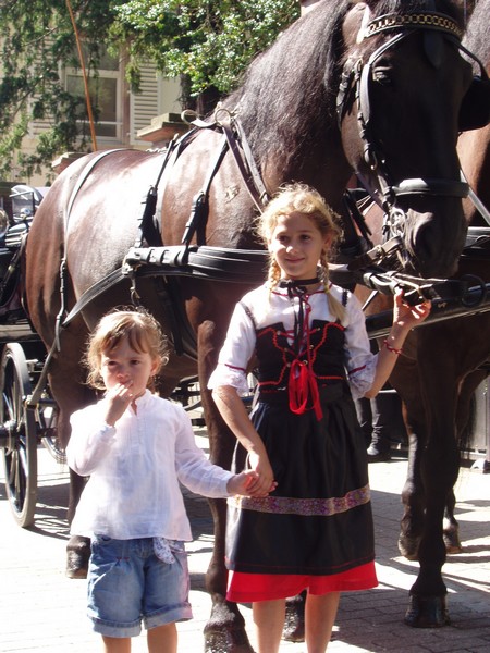
[[[353,397],[364,397],[375,380],[378,355],[372,354],[366,331],[366,317],[359,300],[350,294],[345,328],[345,367]]]

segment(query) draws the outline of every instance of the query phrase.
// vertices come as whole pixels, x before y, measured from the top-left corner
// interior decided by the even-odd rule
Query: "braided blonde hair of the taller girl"
[[[328,206],[315,188],[296,182],[285,184],[280,187],[277,195],[267,205],[264,213],[257,220],[256,231],[266,246],[269,245],[272,238],[272,233],[278,225],[279,218],[281,215],[290,215],[291,213],[302,213],[303,215],[308,217],[322,237],[329,236],[331,238],[330,251],[322,251],[319,260],[319,276],[323,282],[331,312],[335,318],[342,321],[345,317],[345,309],[342,304],[329,293],[329,256],[331,255],[336,241],[342,235],[342,230],[339,225],[340,217]],[[281,269],[275,259],[271,256],[268,273],[268,281],[271,289],[278,285],[280,276]]]

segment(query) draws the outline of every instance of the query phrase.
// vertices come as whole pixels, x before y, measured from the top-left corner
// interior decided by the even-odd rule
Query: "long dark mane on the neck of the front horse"
[[[242,85],[221,106],[237,111],[259,165],[269,158],[286,170],[326,144],[336,131],[335,99],[345,61],[342,25],[352,0],[323,0],[297,19],[257,56]],[[451,0],[368,0],[373,16],[413,13],[427,4],[463,23],[462,8]],[[437,9],[436,9],[437,8]],[[372,39],[373,49],[377,39]]]

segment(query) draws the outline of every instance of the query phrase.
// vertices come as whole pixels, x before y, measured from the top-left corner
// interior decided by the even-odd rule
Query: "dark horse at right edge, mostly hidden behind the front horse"
[[[483,62],[487,72],[490,69],[489,11],[489,0],[476,4],[463,41]],[[490,83],[478,62],[475,63],[475,73],[482,78],[478,90],[481,95],[473,121],[465,125],[469,131],[458,138],[457,150],[465,177],[483,206],[489,207],[490,124],[486,123],[490,121]],[[468,246],[460,258],[457,274],[450,281],[468,282],[478,287],[490,283],[490,227],[473,200],[466,199],[464,208],[470,225]],[[367,222],[375,243],[381,243],[382,211],[369,209]],[[362,298],[369,294],[359,288],[356,293]],[[478,293],[475,295],[477,300],[485,298]],[[390,306],[391,300],[385,295],[378,295],[366,313],[379,316]],[[405,616],[406,624],[414,627],[440,627],[449,623],[442,566],[446,553],[461,551],[453,492],[460,469],[458,446],[467,435],[471,395],[487,377],[490,358],[486,336],[490,313],[473,315],[473,309],[478,313],[477,306],[468,306],[465,317],[436,323],[429,319],[424,328],[414,331],[390,378],[404,402],[409,433],[399,549],[405,557],[420,565]],[[437,311],[432,312],[436,318]]]

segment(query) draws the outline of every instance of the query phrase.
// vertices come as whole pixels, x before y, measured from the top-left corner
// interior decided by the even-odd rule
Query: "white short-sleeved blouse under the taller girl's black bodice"
[[[331,285],[330,293],[342,303],[343,288]],[[311,306],[309,321],[323,320],[334,322],[336,318],[330,312],[324,292],[317,292],[308,296]],[[252,313],[255,324],[244,309],[245,305]],[[267,284],[247,293],[241,303],[235,306],[224,345],[220,352],[218,366],[212,372],[208,387],[220,385],[236,387],[241,395],[249,392],[246,369],[255,350],[255,330],[282,322],[286,331],[294,329],[294,316],[297,315],[298,299],[291,299],[287,291],[275,288],[270,293]],[[377,354],[372,354],[366,331],[365,316],[357,297],[347,293],[345,318],[342,325],[345,328],[345,360],[347,380],[354,398],[362,397],[371,387],[375,379]]]

